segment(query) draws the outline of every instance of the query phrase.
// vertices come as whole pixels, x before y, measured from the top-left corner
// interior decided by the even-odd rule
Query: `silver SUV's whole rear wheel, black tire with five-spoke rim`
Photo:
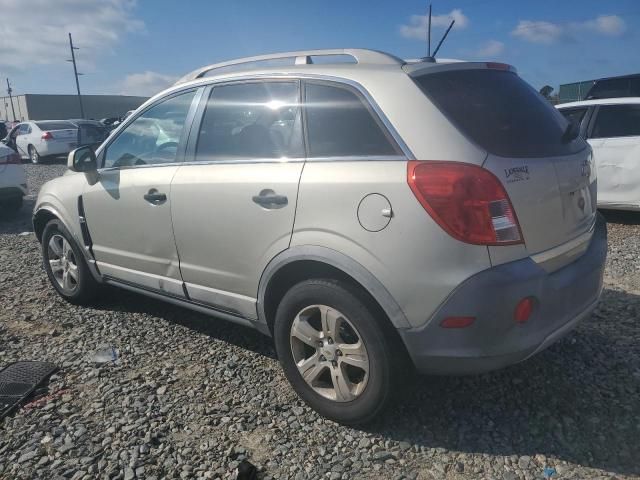
[[[400,352],[390,330],[358,289],[314,279],[285,294],[274,339],[296,393],[321,415],[353,425],[376,417],[395,390]]]

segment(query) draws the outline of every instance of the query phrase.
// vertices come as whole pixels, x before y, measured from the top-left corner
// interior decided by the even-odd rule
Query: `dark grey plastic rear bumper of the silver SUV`
[[[482,271],[460,285],[433,317],[417,329],[400,331],[421,373],[471,374],[511,365],[544,350],[595,308],[602,291],[607,228],[598,215],[588,250],[548,273],[530,258]],[[537,299],[524,324],[514,310],[525,297]],[[448,316],[472,316],[466,328],[442,328]]]

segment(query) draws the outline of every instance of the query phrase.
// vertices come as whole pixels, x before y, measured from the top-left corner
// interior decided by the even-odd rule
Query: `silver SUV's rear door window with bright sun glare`
[[[297,82],[214,87],[200,125],[196,161],[302,156]]]

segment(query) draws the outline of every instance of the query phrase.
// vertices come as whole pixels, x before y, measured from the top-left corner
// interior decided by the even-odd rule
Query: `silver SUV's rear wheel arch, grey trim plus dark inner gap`
[[[354,284],[396,329],[409,328],[404,312],[380,283],[360,263],[330,248],[300,246],[277,255],[265,268],[258,286],[258,323],[271,334],[278,304],[286,291],[311,278],[336,278]]]

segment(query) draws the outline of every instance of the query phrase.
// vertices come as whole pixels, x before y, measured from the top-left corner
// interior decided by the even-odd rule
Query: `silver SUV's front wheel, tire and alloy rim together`
[[[98,292],[84,256],[60,220],[51,220],[42,233],[42,258],[49,281],[69,303],[86,305]]]

